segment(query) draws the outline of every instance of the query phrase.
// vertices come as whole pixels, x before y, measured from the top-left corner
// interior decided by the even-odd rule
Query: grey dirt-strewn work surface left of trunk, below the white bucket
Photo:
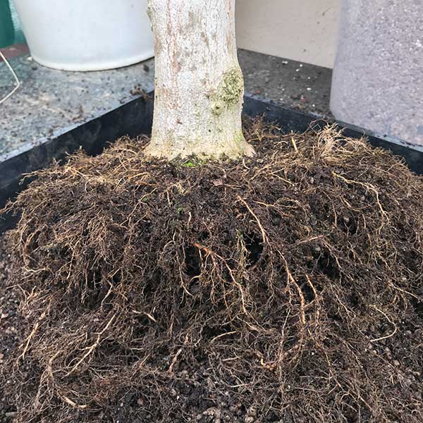
[[[24,55],[9,61],[21,86],[0,104],[0,155],[61,135],[140,95],[135,87],[154,86],[154,61],[102,72],[64,72],[45,68]],[[0,99],[13,77],[0,63]],[[131,93],[132,92],[132,93]]]

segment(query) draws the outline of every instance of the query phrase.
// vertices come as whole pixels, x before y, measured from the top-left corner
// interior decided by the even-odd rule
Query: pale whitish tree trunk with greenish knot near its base
[[[235,0],[149,0],[155,42],[152,141],[157,157],[240,157],[244,81]]]

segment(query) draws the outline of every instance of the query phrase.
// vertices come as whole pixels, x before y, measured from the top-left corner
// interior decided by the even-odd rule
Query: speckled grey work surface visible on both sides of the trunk
[[[295,109],[330,116],[331,70],[239,51],[245,90]],[[30,56],[10,60],[21,87],[0,104],[0,155],[66,133],[81,123],[140,97],[154,87],[154,61],[102,72],[63,72],[44,68]],[[0,63],[0,98],[13,87],[6,65]],[[140,90],[136,90],[139,87]]]

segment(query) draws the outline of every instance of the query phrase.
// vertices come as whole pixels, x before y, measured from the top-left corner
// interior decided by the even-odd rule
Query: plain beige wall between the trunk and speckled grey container
[[[238,47],[333,67],[338,0],[238,0]]]

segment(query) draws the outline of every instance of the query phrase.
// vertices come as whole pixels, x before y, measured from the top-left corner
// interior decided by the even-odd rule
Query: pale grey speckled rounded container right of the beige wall
[[[423,146],[423,1],[342,0],[331,109],[338,121]]]

